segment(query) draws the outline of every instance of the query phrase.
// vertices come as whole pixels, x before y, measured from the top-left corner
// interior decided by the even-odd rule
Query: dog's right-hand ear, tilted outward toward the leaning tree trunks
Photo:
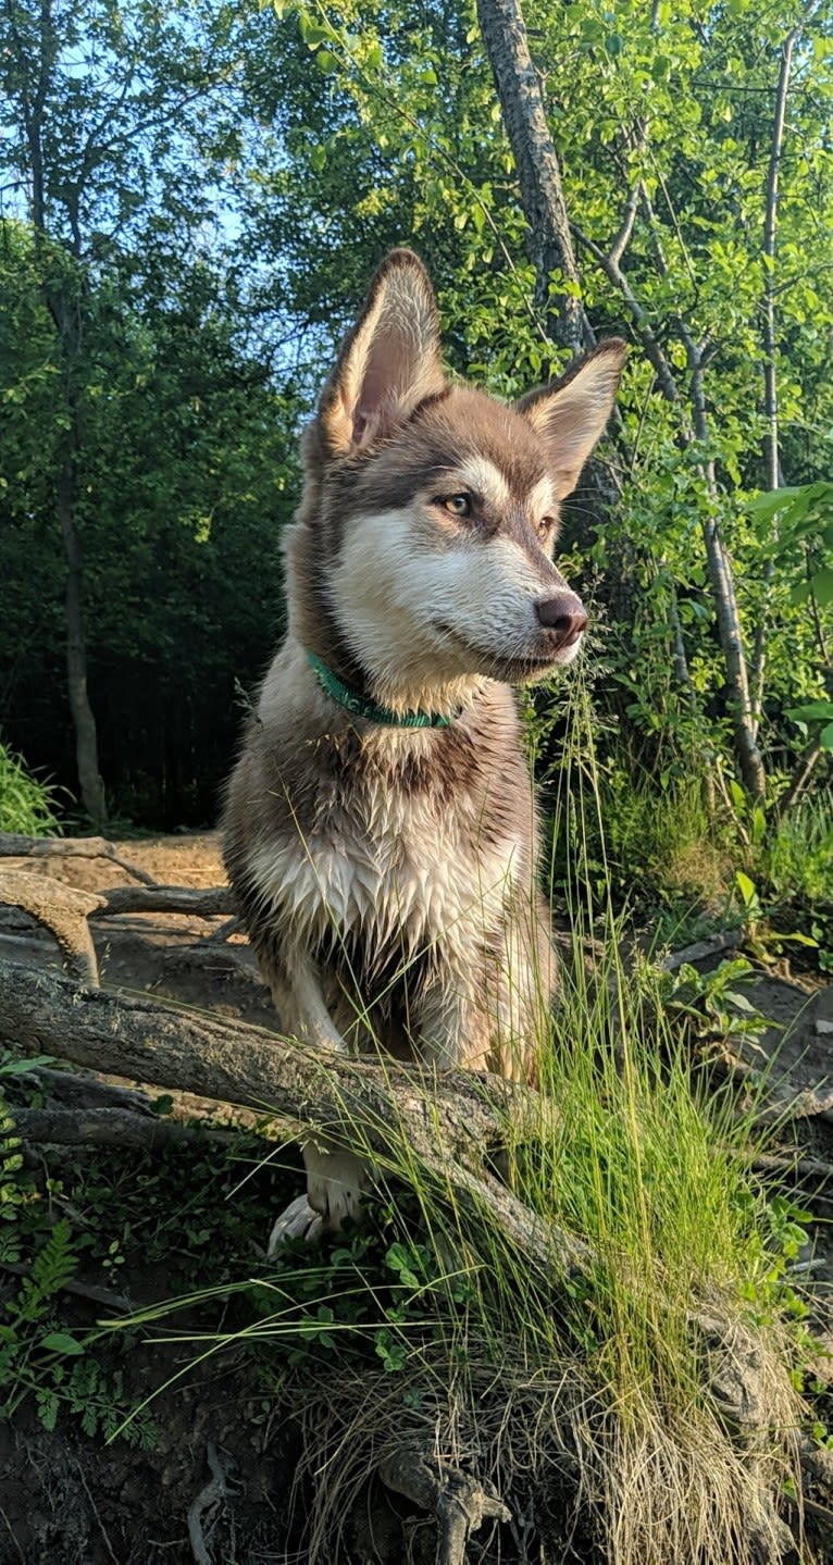
[[[528,391],[515,402],[550,451],[559,499],[576,487],[587,457],[604,434],[626,352],[622,338],[611,336],[561,380]]]

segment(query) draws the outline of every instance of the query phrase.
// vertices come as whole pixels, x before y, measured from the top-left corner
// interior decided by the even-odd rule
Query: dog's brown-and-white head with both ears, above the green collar
[[[586,610],[553,565],[559,504],[604,430],[625,344],[506,407],[446,380],[410,250],[379,268],[304,438],[288,540],[307,646],[395,709],[576,656]]]

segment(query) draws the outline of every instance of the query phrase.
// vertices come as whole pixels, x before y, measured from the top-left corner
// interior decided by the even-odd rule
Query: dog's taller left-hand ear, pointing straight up
[[[362,451],[443,387],[429,275],[412,250],[391,250],[321,396],[318,421],[329,455]]]

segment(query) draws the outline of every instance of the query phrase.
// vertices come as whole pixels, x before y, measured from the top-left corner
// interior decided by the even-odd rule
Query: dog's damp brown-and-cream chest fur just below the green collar
[[[490,687],[449,729],[404,731],[351,726],[308,681],[307,693],[307,732],[283,711],[247,751],[249,808],[265,817],[244,867],[260,916],[312,948],[360,944],[368,967],[391,948],[463,959],[534,862],[512,696]]]

